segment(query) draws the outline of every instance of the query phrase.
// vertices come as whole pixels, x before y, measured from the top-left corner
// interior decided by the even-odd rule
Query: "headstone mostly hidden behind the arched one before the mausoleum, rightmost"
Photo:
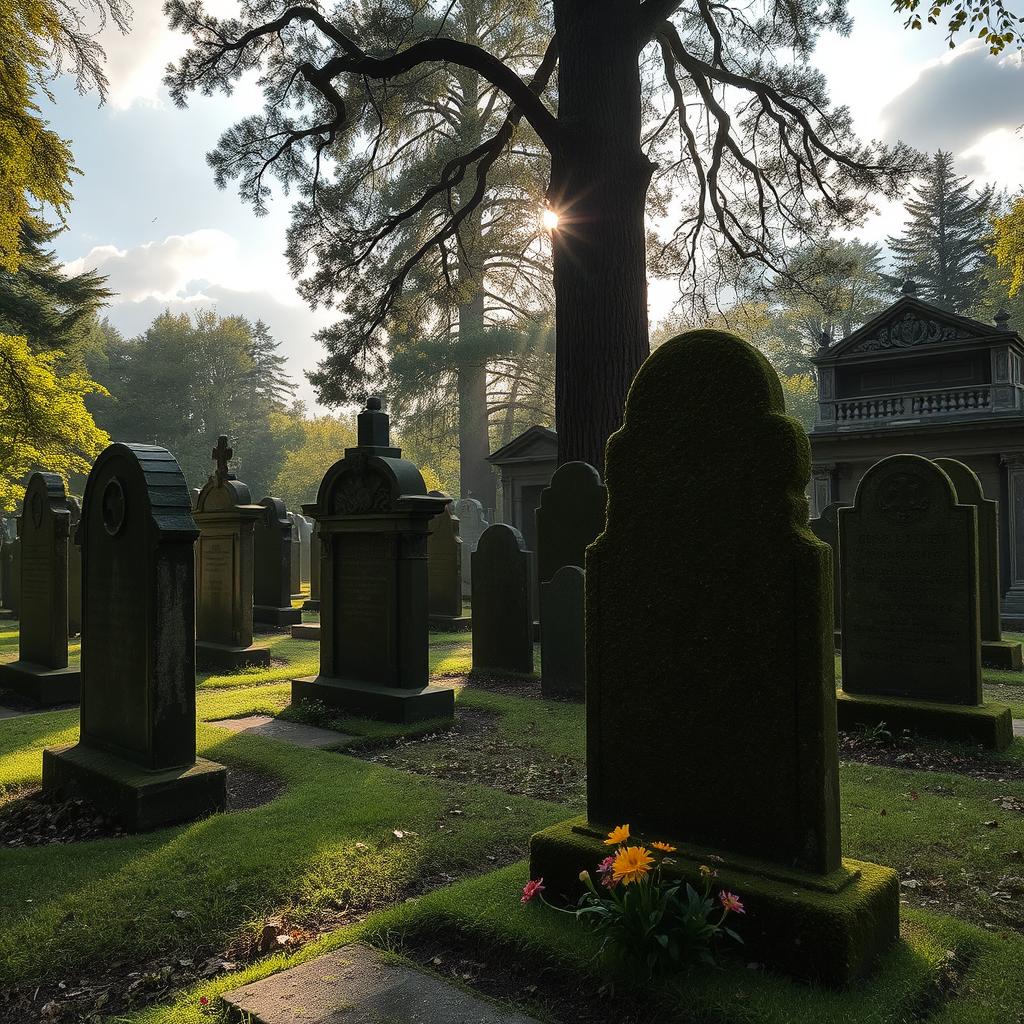
[[[978,516],[978,596],[981,615],[981,660],[995,669],[1021,668],[1021,645],[1002,639],[999,609],[999,503],[985,498],[977,474],[955,459],[936,459],[953,481],[961,505],[973,505]]]

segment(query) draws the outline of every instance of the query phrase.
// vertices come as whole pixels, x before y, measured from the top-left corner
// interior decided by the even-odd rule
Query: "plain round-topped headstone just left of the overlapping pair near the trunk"
[[[475,504],[479,505],[479,502]],[[514,526],[495,523],[471,556],[473,671],[534,671],[534,622],[529,608],[529,552]]]

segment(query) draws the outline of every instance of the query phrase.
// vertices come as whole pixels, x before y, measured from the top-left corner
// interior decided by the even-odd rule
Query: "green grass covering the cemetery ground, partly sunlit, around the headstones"
[[[332,722],[362,737],[353,754],[226,733],[209,723],[309,715],[290,708],[288,680],[315,671],[316,645],[284,635],[261,642],[273,650],[269,670],[199,678],[199,745],[205,757],[280,779],[280,795],[144,836],[0,850],[0,988],[45,987],[115,962],[216,954],[244,945],[271,916],[315,935],[317,923],[369,911],[297,955],[367,935],[400,950],[425,929],[450,929],[506,962],[509,950],[523,951],[525,963],[547,965],[541,975],[557,969],[593,991],[601,982],[592,945],[567,919],[520,909],[526,867],[501,866],[524,856],[532,831],[582,809],[583,707],[463,685],[469,637],[434,634],[433,671],[460,687],[454,726],[398,736],[380,723]],[[3,624],[0,658],[16,649],[16,624]],[[1024,674],[1009,675],[986,672],[986,688],[1024,718]],[[38,784],[41,750],[74,742],[77,723],[76,710],[0,721],[0,793],[12,799]],[[904,943],[868,984],[839,994],[741,965],[694,971],[660,992],[658,1019],[1012,1024],[1024,1005],[1024,743],[984,760],[1005,766],[1006,780],[843,764],[844,854],[895,867],[906,904]],[[406,903],[410,896],[418,898]],[[262,956],[125,1019],[209,1020],[201,995],[284,959]],[[526,987],[498,994],[559,1018],[544,983]]]

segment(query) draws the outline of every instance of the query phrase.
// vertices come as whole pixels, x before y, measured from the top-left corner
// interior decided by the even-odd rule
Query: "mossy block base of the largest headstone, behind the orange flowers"
[[[585,817],[537,833],[529,844],[530,878],[544,879],[547,896],[574,903],[580,872],[594,872],[610,852],[606,827]],[[672,842],[671,837],[652,838]],[[741,955],[802,980],[845,988],[870,973],[899,938],[899,879],[891,867],[843,860],[830,874],[786,870],[775,864],[676,844],[666,873],[701,887],[700,864],[717,871],[713,892],[727,889],[746,913],[730,919],[743,939]]]

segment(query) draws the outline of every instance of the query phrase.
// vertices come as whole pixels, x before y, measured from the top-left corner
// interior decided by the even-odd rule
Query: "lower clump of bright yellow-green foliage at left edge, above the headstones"
[[[88,473],[110,443],[85,408],[86,395],[105,390],[83,372],[61,372],[60,357],[33,354],[25,338],[0,334],[0,508],[22,498],[30,469],[65,479]]]

